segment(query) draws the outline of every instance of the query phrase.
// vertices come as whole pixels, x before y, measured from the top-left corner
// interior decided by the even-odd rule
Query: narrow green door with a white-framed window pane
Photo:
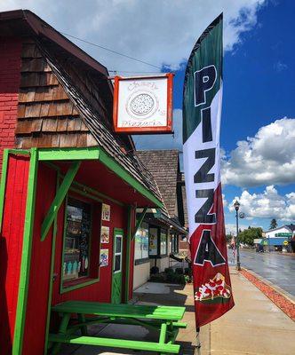
[[[121,304],[122,302],[122,250],[123,230],[115,228],[112,277],[112,304]]]

